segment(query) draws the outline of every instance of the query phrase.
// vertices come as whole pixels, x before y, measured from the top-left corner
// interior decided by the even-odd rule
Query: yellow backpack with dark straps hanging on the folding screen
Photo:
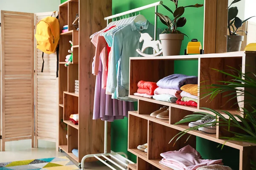
[[[55,13],[54,11],[52,15]],[[43,51],[42,53],[42,69],[41,72],[44,71],[44,53],[52,54],[57,53],[57,72],[56,75],[58,77],[58,42],[60,39],[60,23],[57,17],[46,17],[40,20],[36,25],[36,33],[35,38],[37,41],[37,46],[39,50]]]

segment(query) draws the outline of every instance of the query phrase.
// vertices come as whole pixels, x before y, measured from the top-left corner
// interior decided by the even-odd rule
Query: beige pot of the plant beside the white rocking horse
[[[180,48],[182,40],[184,40],[183,34],[160,34],[163,48],[163,56],[175,56],[180,55]]]

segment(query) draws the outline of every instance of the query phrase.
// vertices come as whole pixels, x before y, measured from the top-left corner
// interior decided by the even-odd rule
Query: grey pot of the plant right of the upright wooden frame
[[[227,36],[227,52],[240,51],[244,36],[228,35]]]

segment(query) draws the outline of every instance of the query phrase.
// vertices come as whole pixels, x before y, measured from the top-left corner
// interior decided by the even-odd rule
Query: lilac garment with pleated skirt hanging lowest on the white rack
[[[106,94],[106,90],[102,89],[102,63],[99,62],[95,84],[93,119],[113,122],[115,119],[123,119],[124,116],[128,116],[128,111],[134,111],[133,102],[111,99],[111,95]]]

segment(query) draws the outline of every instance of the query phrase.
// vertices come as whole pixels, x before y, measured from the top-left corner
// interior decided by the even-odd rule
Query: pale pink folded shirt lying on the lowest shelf
[[[200,153],[190,145],[187,145],[178,151],[161,153],[160,156],[163,157],[161,160],[162,164],[180,168],[180,170],[196,170],[198,167],[206,165],[222,164],[222,159],[201,159]]]

